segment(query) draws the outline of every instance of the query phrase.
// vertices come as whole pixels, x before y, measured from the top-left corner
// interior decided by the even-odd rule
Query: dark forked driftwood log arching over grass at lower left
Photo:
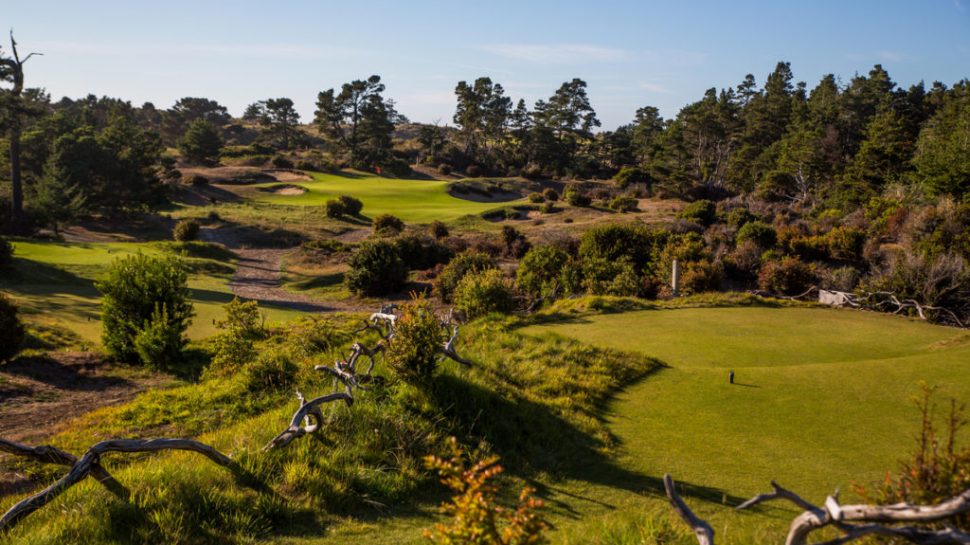
[[[88,449],[88,451],[85,452],[80,459],[77,459],[73,455],[53,447],[31,448],[19,445],[17,443],[12,443],[10,441],[3,441],[2,444],[4,452],[10,452],[12,454],[17,454],[43,462],[70,465],[71,470],[52,485],[34,494],[33,496],[21,500],[19,503],[7,510],[3,517],[0,518],[0,532],[10,530],[25,517],[47,505],[53,501],[54,498],[63,494],[68,488],[83,481],[89,475],[94,475],[95,478],[97,478],[102,484],[105,484],[105,481],[101,480],[98,475],[107,475],[111,482],[114,482],[118,487],[124,490],[124,487],[121,487],[121,485],[118,484],[114,478],[108,475],[100,465],[101,457],[109,452],[157,452],[161,450],[187,450],[202,454],[209,460],[223,467],[230,468],[234,471],[236,469],[236,464],[231,458],[209,445],[192,439],[111,439],[108,441],[101,441],[100,443],[94,445]],[[74,459],[74,461],[71,462],[71,459]],[[109,490],[112,490],[111,485],[105,484],[105,486]],[[112,490],[112,492],[116,494],[118,493],[116,490]],[[125,490],[124,497],[127,498],[127,490]]]

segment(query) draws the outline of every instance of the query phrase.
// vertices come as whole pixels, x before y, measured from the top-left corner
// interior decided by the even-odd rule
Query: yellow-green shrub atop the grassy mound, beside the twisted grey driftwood
[[[423,382],[438,366],[438,348],[445,341],[444,330],[431,302],[415,296],[401,307],[394,339],[384,352],[388,365],[408,381]]]

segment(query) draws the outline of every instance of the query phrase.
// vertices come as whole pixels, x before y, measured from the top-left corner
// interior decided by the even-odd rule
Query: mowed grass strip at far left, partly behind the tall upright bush
[[[93,281],[114,259],[143,252],[159,254],[158,244],[128,242],[59,243],[15,242],[16,270],[0,288],[15,297],[24,314],[35,323],[59,323],[95,344],[101,336],[99,294]],[[193,274],[189,287],[196,316],[189,328],[193,339],[215,332],[213,320],[223,316],[222,305],[232,300],[229,276]],[[298,313],[266,308],[269,320],[288,320]]]

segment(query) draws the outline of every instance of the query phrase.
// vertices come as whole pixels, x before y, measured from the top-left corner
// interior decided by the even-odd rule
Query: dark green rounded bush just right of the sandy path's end
[[[350,258],[347,288],[360,295],[387,295],[404,287],[408,268],[397,244],[388,240],[361,243]]]

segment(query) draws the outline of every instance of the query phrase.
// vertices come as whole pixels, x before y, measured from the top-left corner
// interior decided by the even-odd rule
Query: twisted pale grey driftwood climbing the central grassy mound
[[[263,447],[264,451],[285,447],[295,439],[317,432],[323,425],[323,412],[320,410],[322,405],[341,400],[347,403],[348,406],[353,405],[354,393],[357,390],[366,391],[368,389],[366,385],[379,378],[373,376],[374,366],[377,363],[377,356],[384,354],[387,347],[394,342],[395,328],[398,320],[398,316],[394,314],[395,310],[396,307],[394,305],[382,305],[380,312],[371,314],[370,317],[363,320],[361,327],[354,331],[354,333],[362,333],[368,330],[377,332],[380,340],[372,348],[360,341],[355,341],[347,357],[338,359],[332,366],[317,365],[314,367],[316,371],[331,375],[334,379],[334,387],[342,386],[343,391],[322,395],[310,401],[307,401],[303,397],[303,394],[297,391],[296,397],[300,401],[300,407],[293,413],[293,417],[290,418],[289,426],[270,440]],[[448,340],[442,342],[441,346],[438,347],[442,358],[447,357],[462,365],[471,365],[471,362],[462,358],[455,349],[455,339],[458,338],[459,326],[454,310],[450,311],[446,318],[439,319],[439,324],[442,328],[450,331]],[[367,370],[360,372],[358,370],[358,362],[361,357],[365,356],[369,360]]]

